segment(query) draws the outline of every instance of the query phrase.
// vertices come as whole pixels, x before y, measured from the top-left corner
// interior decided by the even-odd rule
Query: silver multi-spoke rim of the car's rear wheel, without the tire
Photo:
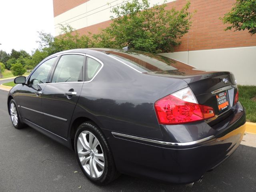
[[[92,178],[102,176],[105,167],[104,153],[94,134],[89,131],[81,132],[77,140],[77,151],[86,173]]]

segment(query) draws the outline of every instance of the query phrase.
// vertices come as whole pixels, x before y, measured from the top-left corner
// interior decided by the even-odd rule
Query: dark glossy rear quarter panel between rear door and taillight
[[[86,117],[102,129],[162,139],[154,102],[188,84],[139,73],[103,53],[90,55],[104,67],[92,82],[84,83],[73,120]]]

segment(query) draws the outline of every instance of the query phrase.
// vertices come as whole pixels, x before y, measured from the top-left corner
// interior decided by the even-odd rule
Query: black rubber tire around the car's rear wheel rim
[[[88,131],[88,132],[92,133],[95,136],[95,138],[97,138],[98,142],[100,143],[100,147],[102,148],[102,153],[104,154],[104,165],[105,166],[104,166],[104,170],[102,170],[103,171],[102,175],[99,176],[98,178],[93,178],[92,176],[90,176],[90,174],[88,174],[86,172],[86,170],[82,166],[82,163],[78,156],[78,137],[79,137],[80,133],[84,132],[84,131]],[[107,142],[105,136],[102,134],[102,132],[98,128],[98,126],[96,126],[93,122],[82,123],[80,126],[78,126],[74,142],[75,142],[74,146],[75,146],[75,152],[76,152],[76,158],[78,160],[78,164],[79,164],[82,172],[84,173],[84,175],[90,181],[94,182],[97,185],[106,185],[106,184],[112,182],[113,180],[115,180],[116,178],[118,178],[118,176],[120,174],[116,170],[112,152],[110,150],[110,147],[108,145],[108,142]],[[84,151],[88,151],[88,150],[84,150]],[[88,161],[90,162],[90,160],[88,160]]]

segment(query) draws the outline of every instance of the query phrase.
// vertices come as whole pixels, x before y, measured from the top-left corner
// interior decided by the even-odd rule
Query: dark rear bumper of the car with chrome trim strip
[[[107,130],[104,133],[121,173],[165,182],[191,183],[238,148],[245,122],[245,112],[240,108],[230,118],[212,126],[211,136],[190,142],[164,142]]]

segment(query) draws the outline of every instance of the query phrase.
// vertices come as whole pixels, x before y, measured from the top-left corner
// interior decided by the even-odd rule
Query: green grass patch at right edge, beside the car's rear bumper
[[[239,101],[246,109],[246,119],[256,122],[256,86],[238,86]]]

